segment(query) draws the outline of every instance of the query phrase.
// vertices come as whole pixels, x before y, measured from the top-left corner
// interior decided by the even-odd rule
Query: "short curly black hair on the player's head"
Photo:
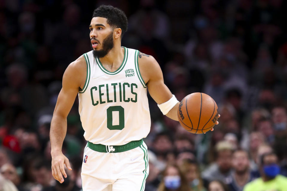
[[[112,5],[101,5],[94,10],[93,17],[106,18],[109,25],[120,28],[122,30],[121,38],[128,29],[128,19],[126,18],[125,13]]]

